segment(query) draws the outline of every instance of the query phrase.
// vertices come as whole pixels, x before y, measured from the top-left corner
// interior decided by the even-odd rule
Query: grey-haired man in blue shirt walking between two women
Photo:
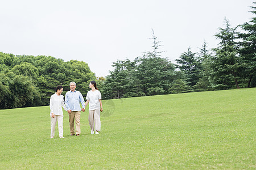
[[[75,128],[74,128],[74,120],[76,122],[76,135],[79,136],[81,134],[80,129],[80,115],[81,111],[85,111],[85,103],[84,97],[80,91],[76,91],[76,83],[70,82],[69,83],[70,91],[68,91],[65,95],[65,105],[68,109],[68,116],[69,116],[69,128],[71,136],[75,135]],[[80,102],[82,104],[82,109],[80,107]]]

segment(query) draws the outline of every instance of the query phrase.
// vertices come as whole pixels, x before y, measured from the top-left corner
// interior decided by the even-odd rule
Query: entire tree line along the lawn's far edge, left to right
[[[256,17],[234,28],[225,19],[214,36],[216,48],[204,42],[193,53],[189,47],[172,63],[159,52],[161,41],[152,31],[152,51],[114,62],[106,78],[97,78],[83,61],[0,52],[0,109],[48,105],[56,86],[65,95],[71,81],[85,97],[95,80],[102,99],[256,87]]]

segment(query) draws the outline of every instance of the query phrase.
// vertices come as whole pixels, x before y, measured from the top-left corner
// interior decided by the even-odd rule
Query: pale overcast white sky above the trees
[[[191,47],[254,17],[253,0],[8,0],[0,1],[0,52],[52,56],[88,63],[96,76],[109,75],[112,63],[152,51],[152,29],[162,41],[162,57],[174,62]]]

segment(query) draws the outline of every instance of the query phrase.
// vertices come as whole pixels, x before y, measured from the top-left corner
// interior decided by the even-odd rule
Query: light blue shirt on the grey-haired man
[[[67,109],[71,109],[71,111],[81,111],[80,102],[82,104],[82,108],[85,108],[84,97],[80,91],[68,91],[65,95],[65,105]]]

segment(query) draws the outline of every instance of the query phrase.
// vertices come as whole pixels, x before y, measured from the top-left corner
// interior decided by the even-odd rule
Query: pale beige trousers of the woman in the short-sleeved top
[[[101,131],[101,112],[100,109],[89,111],[89,125],[92,131]],[[94,129],[95,122],[95,129]]]

